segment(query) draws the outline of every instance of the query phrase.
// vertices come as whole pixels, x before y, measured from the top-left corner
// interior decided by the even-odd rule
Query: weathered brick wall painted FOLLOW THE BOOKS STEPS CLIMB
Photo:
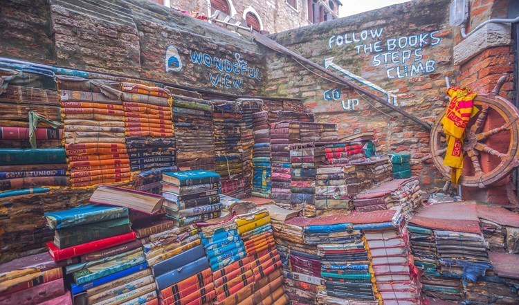
[[[448,4],[412,1],[271,37],[329,71],[353,75],[357,84],[379,86],[379,95],[432,122],[448,102],[445,77],[455,81]],[[412,155],[412,173],[424,186],[443,183],[430,160],[421,161],[429,155],[429,133],[419,125],[286,56],[266,57],[266,95],[304,99],[305,110],[338,124],[343,135],[374,130],[381,152]]]

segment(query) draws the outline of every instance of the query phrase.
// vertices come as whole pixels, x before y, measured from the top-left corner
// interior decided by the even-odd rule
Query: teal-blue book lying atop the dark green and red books
[[[47,224],[53,230],[122,217],[128,217],[128,209],[126,207],[109,205],[82,205],[69,210],[45,213]]]

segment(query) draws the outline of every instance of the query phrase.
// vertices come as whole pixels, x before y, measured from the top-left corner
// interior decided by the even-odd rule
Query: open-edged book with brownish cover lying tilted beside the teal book
[[[153,214],[161,210],[164,198],[156,194],[103,185],[93,192],[90,201]]]

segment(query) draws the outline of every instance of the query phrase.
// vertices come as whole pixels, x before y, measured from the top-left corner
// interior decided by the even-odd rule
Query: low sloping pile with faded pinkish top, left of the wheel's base
[[[355,210],[369,212],[387,210],[392,207],[403,207],[403,212],[410,213],[421,204],[419,181],[412,177],[396,179],[356,195],[353,201]]]

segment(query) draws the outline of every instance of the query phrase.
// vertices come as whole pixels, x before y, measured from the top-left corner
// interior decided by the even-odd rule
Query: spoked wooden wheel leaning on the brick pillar
[[[459,178],[460,185],[486,187],[500,181],[519,166],[519,112],[508,100],[495,93],[493,91],[489,94],[480,94],[474,100],[474,106],[480,111],[471,118],[465,129],[464,170]],[[446,110],[441,111],[430,131],[430,151],[439,172],[450,178],[451,169],[444,165],[447,145],[444,129],[440,122],[445,112]],[[486,124],[489,115],[495,118],[494,122],[499,122],[498,127],[489,127],[491,124]],[[496,135],[500,135],[500,138],[507,136],[509,142],[506,143],[500,139],[501,147],[499,149],[491,147],[489,142],[492,142],[491,138]],[[489,164],[482,167],[482,158],[486,158],[486,160],[493,158],[495,163],[500,163],[495,167],[489,166]]]

